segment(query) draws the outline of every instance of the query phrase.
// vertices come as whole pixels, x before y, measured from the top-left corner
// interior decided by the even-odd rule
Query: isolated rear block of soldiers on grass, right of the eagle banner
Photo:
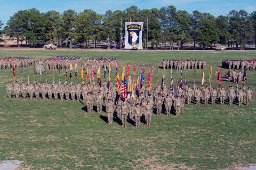
[[[163,60],[163,69],[205,69],[206,62],[204,60]]]

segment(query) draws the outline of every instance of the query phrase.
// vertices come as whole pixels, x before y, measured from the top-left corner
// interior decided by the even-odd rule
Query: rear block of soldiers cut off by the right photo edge
[[[256,70],[256,61],[253,60],[222,60],[222,67],[226,69],[239,69],[243,70],[244,68],[248,70]]]

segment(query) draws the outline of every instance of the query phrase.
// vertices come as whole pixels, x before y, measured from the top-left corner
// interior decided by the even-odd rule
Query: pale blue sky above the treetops
[[[231,10],[243,9],[249,13],[256,11],[256,0],[0,0],[0,20],[6,23],[15,12],[33,7],[41,12],[63,12],[71,8],[77,12],[91,9],[104,14],[107,10],[125,10],[132,5],[141,10],[174,5],[177,10],[187,10],[189,13],[198,10],[215,16],[226,15]]]

